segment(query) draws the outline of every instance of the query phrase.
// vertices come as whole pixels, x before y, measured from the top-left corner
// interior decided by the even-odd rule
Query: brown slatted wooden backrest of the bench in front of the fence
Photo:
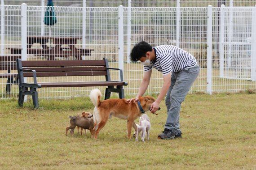
[[[35,70],[37,77],[47,76],[108,76],[107,59],[62,60],[62,61],[21,61],[22,69]],[[32,72],[22,71],[24,77]],[[107,78],[106,78],[107,79]]]

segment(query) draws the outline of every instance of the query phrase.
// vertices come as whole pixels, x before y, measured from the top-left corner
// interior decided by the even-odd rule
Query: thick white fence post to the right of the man
[[[212,5],[207,8],[207,93],[212,94]]]

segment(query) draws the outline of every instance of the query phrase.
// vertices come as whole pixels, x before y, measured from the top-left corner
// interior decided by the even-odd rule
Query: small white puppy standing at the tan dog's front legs
[[[140,117],[139,120],[140,124],[137,125],[137,134],[136,134],[136,141],[138,141],[139,133],[141,132],[141,140],[144,142],[146,133],[147,133],[147,140],[149,140],[149,130],[150,130],[150,119],[148,115],[144,114]]]

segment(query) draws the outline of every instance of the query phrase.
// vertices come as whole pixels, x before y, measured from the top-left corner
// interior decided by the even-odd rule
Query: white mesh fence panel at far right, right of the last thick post
[[[213,91],[255,89],[252,70],[252,8],[217,8],[213,27]],[[219,48],[216,48],[219,46]],[[213,46],[214,47],[214,46]]]

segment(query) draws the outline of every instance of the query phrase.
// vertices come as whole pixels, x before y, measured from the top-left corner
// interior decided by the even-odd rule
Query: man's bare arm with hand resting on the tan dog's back
[[[150,77],[151,77],[152,69],[148,72],[144,72],[143,79],[141,81],[141,87],[139,89],[139,92],[136,96],[136,98],[131,98],[127,100],[126,102],[137,102],[139,100],[139,97],[143,96],[143,94],[146,92],[146,89],[148,88],[148,85],[150,83]]]

